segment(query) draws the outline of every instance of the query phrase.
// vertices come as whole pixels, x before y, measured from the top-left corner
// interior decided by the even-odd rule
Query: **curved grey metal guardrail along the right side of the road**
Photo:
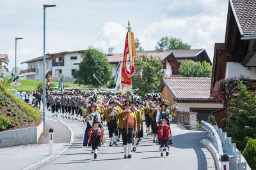
[[[236,143],[232,143],[231,137],[227,137],[227,132],[223,132],[217,125],[209,124],[204,120],[201,123],[202,128],[208,132],[208,139],[202,139],[202,143],[204,143],[214,156],[218,170],[250,169],[241,152],[237,150]]]

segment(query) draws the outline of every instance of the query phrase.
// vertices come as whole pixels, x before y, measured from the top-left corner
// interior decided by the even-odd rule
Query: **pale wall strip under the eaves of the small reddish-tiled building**
[[[190,111],[190,108],[223,108],[219,103],[177,103],[178,110]]]

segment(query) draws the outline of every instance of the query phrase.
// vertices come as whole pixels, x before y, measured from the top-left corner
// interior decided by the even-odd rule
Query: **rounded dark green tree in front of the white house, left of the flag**
[[[83,60],[74,77],[76,83],[100,87],[99,81],[93,77],[93,74],[101,83],[106,84],[111,80],[112,72],[107,57],[95,48],[89,48],[89,50],[84,51]]]

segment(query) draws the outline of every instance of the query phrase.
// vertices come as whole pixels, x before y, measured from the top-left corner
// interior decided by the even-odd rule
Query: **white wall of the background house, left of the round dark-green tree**
[[[67,53],[64,57],[64,66],[52,67],[52,76],[58,76],[58,74],[55,74],[55,70],[60,68],[65,78],[73,78],[71,70],[79,69],[79,65],[74,65],[74,63],[81,59],[81,53]],[[77,59],[71,60],[70,57],[77,57]]]

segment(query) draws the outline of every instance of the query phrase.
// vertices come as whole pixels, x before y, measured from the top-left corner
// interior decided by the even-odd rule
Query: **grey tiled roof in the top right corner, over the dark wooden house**
[[[256,39],[256,0],[229,0],[241,39]]]

